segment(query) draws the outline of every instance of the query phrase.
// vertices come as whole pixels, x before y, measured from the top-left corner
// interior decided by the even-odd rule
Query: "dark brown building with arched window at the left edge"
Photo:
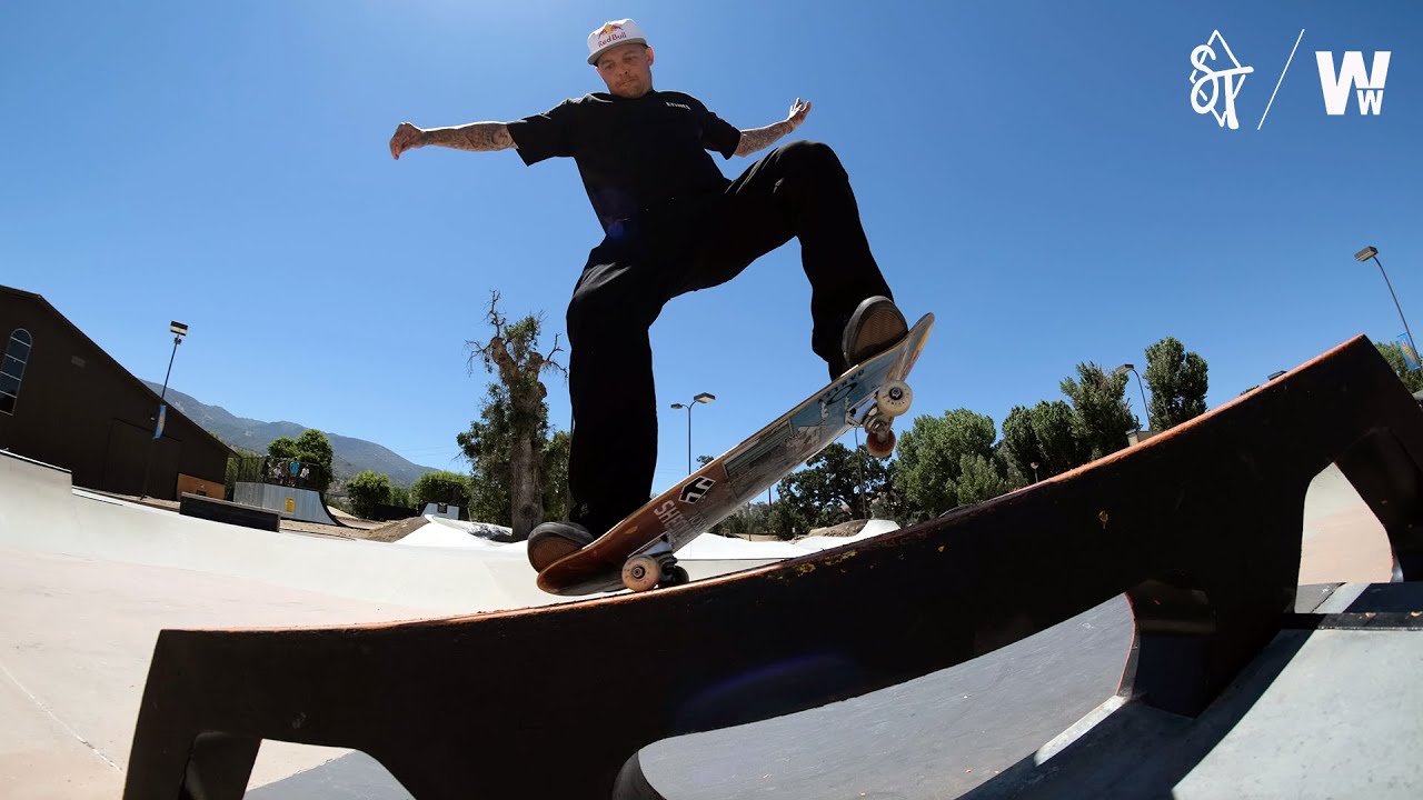
[[[232,450],[158,394],[44,298],[0,286],[0,450],[70,470],[74,485],[176,500],[179,475],[216,484]],[[192,490],[186,490],[192,491]]]

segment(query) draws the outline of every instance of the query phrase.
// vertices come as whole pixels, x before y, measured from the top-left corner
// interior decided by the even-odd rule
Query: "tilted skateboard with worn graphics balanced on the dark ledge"
[[[895,346],[857,364],[830,386],[647,501],[588,547],[538,574],[538,586],[555,595],[589,595],[684,584],[675,554],[771,484],[808,461],[851,427],[868,433],[865,448],[878,458],[894,451],[894,419],[909,410],[914,393],[904,381],[933,327],[925,315]]]

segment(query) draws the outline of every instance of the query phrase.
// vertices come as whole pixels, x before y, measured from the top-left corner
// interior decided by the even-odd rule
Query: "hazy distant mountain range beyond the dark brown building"
[[[144,383],[154,393],[162,390],[162,386],[157,383],[148,380]],[[208,406],[172,387],[168,389],[166,397],[174,409],[238,451],[250,450],[266,454],[268,444],[272,444],[273,440],[283,436],[296,438],[307,430],[306,426],[297,423],[263,423],[262,420],[238,417],[221,406]],[[339,480],[344,481],[361,470],[371,470],[388,475],[391,484],[410,487],[420,475],[435,471],[435,467],[413,464],[374,441],[339,436],[326,430],[322,433],[332,443],[332,471]]]

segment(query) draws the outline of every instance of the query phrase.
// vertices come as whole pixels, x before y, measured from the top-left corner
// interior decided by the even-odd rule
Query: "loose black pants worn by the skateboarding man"
[[[778,147],[721,194],[679,198],[609,226],[568,306],[573,521],[601,535],[652,494],[657,399],[647,329],[662,306],[736,278],[793,236],[811,283],[811,349],[840,364],[855,306],[891,295],[827,145]]]

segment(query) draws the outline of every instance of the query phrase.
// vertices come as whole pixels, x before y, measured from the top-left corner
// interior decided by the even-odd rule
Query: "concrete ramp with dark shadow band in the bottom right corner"
[[[966,796],[1417,797],[1423,584],[1311,589],[1198,717],[1114,696]]]

